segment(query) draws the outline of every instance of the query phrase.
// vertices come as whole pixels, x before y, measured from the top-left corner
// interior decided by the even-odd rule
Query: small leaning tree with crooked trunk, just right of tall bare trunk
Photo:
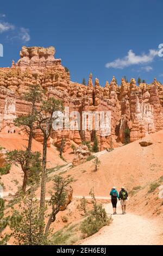
[[[62,178],[60,175],[54,178],[54,191],[51,200],[49,200],[49,205],[52,207],[52,212],[49,215],[49,219],[45,229],[45,235],[49,233],[49,228],[51,223],[55,221],[56,215],[61,210],[62,206],[66,204],[67,197],[67,187],[73,181],[73,179]]]

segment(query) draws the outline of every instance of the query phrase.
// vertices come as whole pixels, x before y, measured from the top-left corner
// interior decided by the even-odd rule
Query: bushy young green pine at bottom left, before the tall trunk
[[[45,235],[40,237],[40,222],[39,200],[35,198],[35,187],[32,186],[19,204],[19,209],[14,210],[10,218],[10,228],[16,243],[18,242],[18,245],[46,244],[47,237]],[[45,226],[44,222],[42,225]]]

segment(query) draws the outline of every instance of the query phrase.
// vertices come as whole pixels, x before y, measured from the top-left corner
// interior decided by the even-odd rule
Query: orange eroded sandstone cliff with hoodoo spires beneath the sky
[[[54,47],[22,47],[20,60],[12,61],[11,68],[0,68],[0,129],[14,132],[14,119],[30,112],[30,105],[23,100],[30,84],[40,84],[45,97],[61,99],[71,111],[110,111],[111,134],[103,136],[97,131],[99,148],[108,148],[113,143],[126,140],[126,129],[130,130],[130,141],[142,138],[163,128],[163,86],[156,79],[153,83],[136,86],[134,78],[130,83],[122,78],[120,86],[115,77],[105,86],[95,85],[90,74],[87,86],[70,80],[70,73],[61,65],[61,59],[54,58]],[[82,128],[82,127],[81,127]],[[93,128],[92,128],[93,129]],[[71,141],[80,144],[82,140],[92,141],[93,131],[53,131],[51,137],[59,146],[66,141],[65,150]],[[41,132],[35,138],[42,142]],[[50,146],[50,144],[49,144]]]

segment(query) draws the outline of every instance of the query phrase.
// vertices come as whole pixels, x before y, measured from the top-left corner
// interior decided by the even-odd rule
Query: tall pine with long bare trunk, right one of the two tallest
[[[40,110],[37,111],[37,127],[43,133],[42,173],[41,173],[41,196],[40,196],[40,237],[43,235],[43,221],[45,216],[45,192],[46,192],[46,161],[47,141],[52,131],[54,120],[58,119],[58,111],[63,111],[60,100],[49,98],[42,102]]]

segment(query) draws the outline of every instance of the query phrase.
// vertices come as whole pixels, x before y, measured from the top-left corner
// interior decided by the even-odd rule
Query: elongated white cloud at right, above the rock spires
[[[149,50],[148,54],[136,55],[133,50],[129,50],[127,56],[122,59],[115,59],[113,62],[108,62],[105,66],[106,68],[123,69],[131,65],[150,63],[158,56],[158,53],[156,50]]]

